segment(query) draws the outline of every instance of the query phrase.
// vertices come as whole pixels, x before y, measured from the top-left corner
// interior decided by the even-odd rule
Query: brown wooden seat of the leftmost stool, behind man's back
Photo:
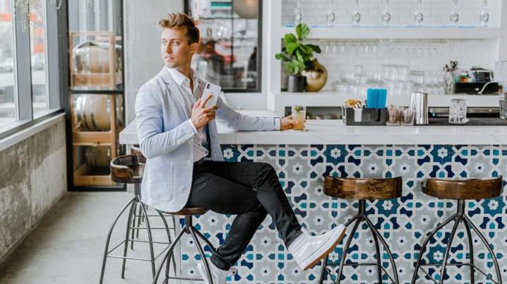
[[[144,162],[138,155],[122,155],[111,161],[111,179],[122,184],[139,184],[143,180]]]

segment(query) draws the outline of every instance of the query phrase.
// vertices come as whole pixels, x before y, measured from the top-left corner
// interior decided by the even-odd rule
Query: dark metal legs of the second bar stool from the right
[[[355,221],[355,222],[354,222]],[[352,230],[348,234],[349,237],[347,237],[347,242],[345,243],[345,247],[343,247],[342,256],[340,263],[331,263],[328,261],[328,256],[326,256],[326,259],[323,261],[322,265],[322,272],[321,272],[321,280],[319,280],[318,283],[322,284],[324,282],[324,279],[326,278],[326,275],[331,275],[330,271],[328,270],[327,266],[336,266],[337,264],[340,266],[338,270],[338,276],[335,281],[336,284],[341,283],[341,278],[343,274],[343,267],[344,266],[376,266],[377,267],[377,277],[378,277],[378,283],[382,282],[382,273],[386,273],[386,276],[392,281],[392,283],[399,284],[400,281],[398,280],[398,271],[396,271],[396,264],[394,261],[393,254],[390,252],[390,249],[386,243],[386,240],[382,237],[382,235],[376,230],[374,224],[371,222],[371,220],[366,215],[366,200],[359,200],[359,212],[352,217],[346,224],[345,227],[349,227],[354,222],[354,226],[352,227]],[[345,264],[345,260],[347,258],[347,251],[349,250],[350,243],[352,242],[352,239],[354,239],[354,234],[357,231],[357,228],[359,227],[359,224],[362,222],[366,222],[369,229],[371,230],[371,234],[373,235],[374,242],[375,242],[375,250],[376,250],[376,263],[350,263]],[[378,241],[382,243],[383,247],[386,249],[386,252],[388,253],[390,264],[393,268],[393,277],[391,277],[381,264],[381,249],[378,244]]]

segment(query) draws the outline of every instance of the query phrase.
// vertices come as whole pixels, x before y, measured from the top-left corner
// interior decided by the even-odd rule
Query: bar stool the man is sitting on
[[[181,237],[183,236],[184,233],[192,236],[193,243],[196,245],[196,248],[197,248],[199,254],[201,254],[201,260],[203,261],[204,267],[206,269],[206,273],[208,274],[208,281],[210,284],[213,284],[213,279],[211,279],[210,266],[208,265],[208,261],[206,261],[206,256],[204,254],[203,247],[201,247],[201,243],[199,242],[198,237],[201,238],[206,244],[208,244],[208,247],[210,247],[210,249],[213,253],[215,253],[215,247],[213,247],[213,244],[211,244],[211,242],[208,239],[206,239],[201,234],[201,232],[199,232],[196,229],[196,227],[193,226],[193,223],[192,223],[193,216],[203,215],[204,213],[206,213],[206,211],[207,210],[205,208],[199,208],[199,207],[183,208],[178,212],[157,211],[159,213],[165,213],[165,214],[169,214],[169,215],[184,216],[185,221],[184,221],[184,226],[181,228],[181,231],[179,231],[178,235],[174,239],[174,242],[172,242],[171,246],[167,250],[167,253],[164,256],[164,259],[162,259],[162,262],[158,266],[157,273],[156,273],[155,277],[153,278],[153,284],[157,284],[158,278],[160,276],[160,272],[162,271],[162,268],[163,268],[166,261],[167,261],[167,265],[165,266],[165,278],[164,278],[163,283],[165,283],[165,284],[169,283],[169,279],[204,281],[201,278],[182,278],[182,277],[169,276],[169,263],[171,262],[169,259],[172,259],[174,261],[174,247],[176,247],[176,244],[181,240]],[[220,284],[220,283],[215,283],[215,284]]]

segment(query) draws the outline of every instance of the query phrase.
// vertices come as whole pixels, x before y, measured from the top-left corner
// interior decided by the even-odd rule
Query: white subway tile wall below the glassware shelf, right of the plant
[[[316,58],[328,70],[328,83],[323,90],[336,90],[335,85],[347,72],[362,66],[364,73],[380,72],[384,64],[409,66],[410,70],[441,71],[449,61],[458,61],[458,68],[480,66],[494,69],[498,52],[494,40],[309,40],[319,45]],[[489,42],[489,43],[488,43]],[[285,76],[282,76],[285,77]]]

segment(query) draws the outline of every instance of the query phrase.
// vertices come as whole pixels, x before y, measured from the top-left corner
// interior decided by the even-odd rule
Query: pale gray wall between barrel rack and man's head
[[[179,11],[183,11],[182,0],[124,1],[127,124],[136,117],[133,106],[139,88],[164,66],[160,56],[158,20],[167,13]]]

